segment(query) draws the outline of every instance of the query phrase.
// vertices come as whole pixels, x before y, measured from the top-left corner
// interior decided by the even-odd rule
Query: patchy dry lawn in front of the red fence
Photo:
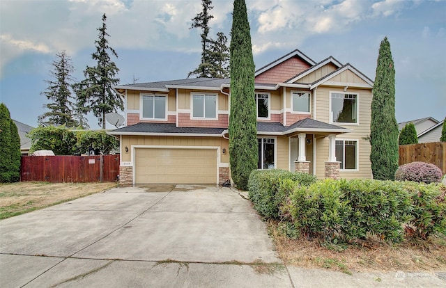
[[[19,182],[0,184],[0,219],[106,191],[115,183]]]

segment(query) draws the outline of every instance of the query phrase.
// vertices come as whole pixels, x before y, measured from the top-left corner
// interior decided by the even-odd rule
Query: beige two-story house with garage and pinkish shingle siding
[[[259,169],[370,178],[373,81],[333,57],[299,50],[255,74]],[[114,87],[125,99],[121,184],[222,184],[230,178],[229,79]]]

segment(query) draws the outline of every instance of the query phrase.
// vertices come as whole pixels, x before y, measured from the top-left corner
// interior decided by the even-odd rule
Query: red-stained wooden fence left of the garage
[[[119,174],[119,155],[23,156],[21,181],[115,182]]]

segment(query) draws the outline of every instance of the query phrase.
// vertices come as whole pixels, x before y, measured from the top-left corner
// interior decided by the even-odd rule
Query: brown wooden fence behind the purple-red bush
[[[399,165],[415,161],[435,164],[446,174],[446,142],[399,145]]]

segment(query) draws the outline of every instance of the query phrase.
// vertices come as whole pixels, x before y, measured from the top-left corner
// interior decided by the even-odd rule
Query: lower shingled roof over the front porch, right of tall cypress
[[[320,132],[323,134],[341,134],[351,132],[350,129],[328,124],[312,118],[305,118],[293,125],[284,127],[281,123],[257,122],[258,134],[287,135],[295,132]]]

